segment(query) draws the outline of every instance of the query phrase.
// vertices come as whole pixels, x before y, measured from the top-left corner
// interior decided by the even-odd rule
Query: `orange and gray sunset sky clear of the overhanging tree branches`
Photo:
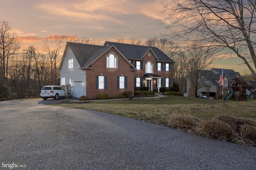
[[[160,37],[165,24],[159,20],[160,0],[0,0],[0,21],[22,38],[22,47],[42,48],[50,35],[94,39],[96,45],[120,38],[147,39]],[[214,68],[233,69],[242,73],[247,67],[241,59],[227,58]]]

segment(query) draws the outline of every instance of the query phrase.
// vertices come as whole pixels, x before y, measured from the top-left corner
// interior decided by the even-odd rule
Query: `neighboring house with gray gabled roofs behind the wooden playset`
[[[220,75],[222,74],[223,70],[223,88],[220,87]],[[234,70],[230,69],[220,69],[220,68],[212,68],[211,70],[205,71],[205,80],[204,85],[210,85],[210,94],[209,97],[216,97],[218,88],[220,87],[220,94],[222,93],[222,89],[224,92],[224,96],[228,94],[230,91],[230,85],[232,80],[235,78],[243,78],[239,72],[235,72]],[[206,94],[205,86],[202,86],[202,88],[199,88],[197,90],[197,96],[201,94]],[[191,82],[188,80],[187,82],[187,89],[188,89],[188,96],[194,96],[195,95],[195,89],[194,86],[191,85]]]

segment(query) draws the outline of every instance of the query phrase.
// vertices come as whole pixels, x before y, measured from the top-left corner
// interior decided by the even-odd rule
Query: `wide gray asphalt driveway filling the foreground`
[[[255,147],[44,102],[0,102],[1,161],[31,170],[256,169]]]

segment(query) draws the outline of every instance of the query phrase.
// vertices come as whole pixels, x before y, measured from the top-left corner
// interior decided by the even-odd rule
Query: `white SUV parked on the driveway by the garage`
[[[64,88],[62,86],[43,86],[40,97],[44,100],[47,98],[54,98],[55,100],[65,98]],[[70,98],[70,93],[68,93],[68,98]]]

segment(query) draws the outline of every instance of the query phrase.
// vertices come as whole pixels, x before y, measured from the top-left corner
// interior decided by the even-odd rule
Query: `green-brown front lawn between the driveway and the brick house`
[[[168,96],[52,105],[101,111],[159,125],[167,125],[168,119],[173,115],[194,115],[201,120],[211,120],[216,115],[229,114],[235,117],[256,119],[256,100],[222,101]]]

